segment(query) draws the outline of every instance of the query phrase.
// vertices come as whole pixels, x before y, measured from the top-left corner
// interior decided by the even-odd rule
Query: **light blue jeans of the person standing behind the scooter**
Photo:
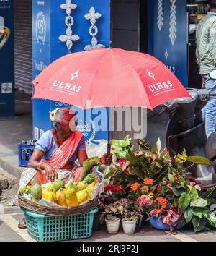
[[[210,93],[216,93],[216,80],[209,80],[206,83],[206,88]],[[204,111],[205,112],[205,130],[207,137],[209,137],[212,132],[215,132],[216,127],[216,97],[210,97],[210,100],[207,102]]]

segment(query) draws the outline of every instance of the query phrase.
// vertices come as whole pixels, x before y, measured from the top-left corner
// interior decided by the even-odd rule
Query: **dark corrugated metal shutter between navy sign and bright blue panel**
[[[32,0],[14,1],[15,87],[32,92]]]

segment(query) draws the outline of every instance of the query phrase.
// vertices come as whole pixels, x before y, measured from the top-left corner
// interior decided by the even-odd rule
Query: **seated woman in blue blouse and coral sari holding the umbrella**
[[[35,145],[28,163],[30,168],[22,172],[19,188],[27,184],[45,184],[62,179],[65,183],[78,182],[82,165],[88,159],[84,135],[76,130],[76,114],[71,108],[57,108],[50,113],[54,129],[45,132]],[[75,165],[78,159],[80,166]],[[112,154],[104,154],[99,161],[112,163]],[[19,228],[25,221],[19,222]]]

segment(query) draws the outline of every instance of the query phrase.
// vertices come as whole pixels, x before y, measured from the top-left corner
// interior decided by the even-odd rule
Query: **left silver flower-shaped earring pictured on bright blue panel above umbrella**
[[[71,29],[71,27],[74,24],[74,20],[73,20],[73,17],[71,16],[71,12],[73,9],[76,9],[76,7],[77,5],[73,4],[71,0],[66,0],[66,4],[60,5],[60,8],[66,10],[66,14],[68,14],[65,20],[66,26],[68,28],[66,29],[66,35],[60,35],[58,39],[61,42],[66,43],[66,46],[68,48],[68,53],[71,53],[73,42],[76,42],[77,40],[80,39],[78,35],[73,35],[73,31]]]

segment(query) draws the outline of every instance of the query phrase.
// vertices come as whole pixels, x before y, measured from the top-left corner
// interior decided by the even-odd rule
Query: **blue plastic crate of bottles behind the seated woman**
[[[35,149],[35,145],[28,144],[18,144],[18,153],[19,153],[19,166],[27,167],[28,161],[32,156],[33,150]]]

